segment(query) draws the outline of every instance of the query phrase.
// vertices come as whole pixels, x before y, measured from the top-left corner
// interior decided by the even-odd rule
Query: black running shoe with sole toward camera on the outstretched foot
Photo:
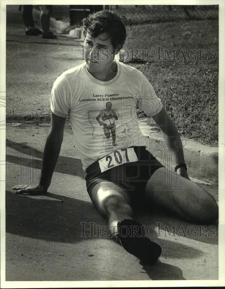
[[[130,254],[153,265],[162,253],[160,245],[145,236],[143,226],[132,219],[118,222],[118,234],[123,248]]]

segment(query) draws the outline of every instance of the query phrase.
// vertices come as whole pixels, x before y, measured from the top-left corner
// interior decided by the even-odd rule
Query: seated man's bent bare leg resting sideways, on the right
[[[175,181],[169,182],[168,176]],[[218,205],[208,192],[165,168],[153,173],[145,194],[154,204],[168,208],[188,221],[210,223],[218,218]]]

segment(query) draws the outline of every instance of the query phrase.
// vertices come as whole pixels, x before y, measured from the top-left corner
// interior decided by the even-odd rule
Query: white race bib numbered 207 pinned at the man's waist
[[[138,161],[137,155],[134,148],[130,147],[128,149],[115,150],[106,155],[104,158],[100,159],[98,162],[101,172],[103,173],[104,171],[107,171],[115,166],[119,166],[120,164],[136,161]]]

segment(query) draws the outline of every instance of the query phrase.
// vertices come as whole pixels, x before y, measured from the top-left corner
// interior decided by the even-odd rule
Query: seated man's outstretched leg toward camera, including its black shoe
[[[92,201],[97,210],[108,219],[110,233],[114,236],[118,233],[119,241],[126,251],[150,264],[154,264],[158,260],[162,249],[158,244],[145,237],[141,232],[141,224],[132,219],[128,192],[116,184],[103,181],[94,186]],[[137,236],[132,236],[132,227],[134,226],[136,226]]]

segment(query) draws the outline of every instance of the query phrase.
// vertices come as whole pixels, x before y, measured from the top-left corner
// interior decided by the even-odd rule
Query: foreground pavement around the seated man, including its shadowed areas
[[[218,278],[218,222],[201,227],[151,204],[135,206],[134,217],[152,226],[151,240],[163,249],[155,266],[140,263],[102,236],[107,222],[87,194],[85,173],[68,124],[49,193],[16,195],[12,186],[38,184],[49,128],[49,124],[40,123],[7,130],[6,280]],[[200,186],[218,200],[216,186]]]

